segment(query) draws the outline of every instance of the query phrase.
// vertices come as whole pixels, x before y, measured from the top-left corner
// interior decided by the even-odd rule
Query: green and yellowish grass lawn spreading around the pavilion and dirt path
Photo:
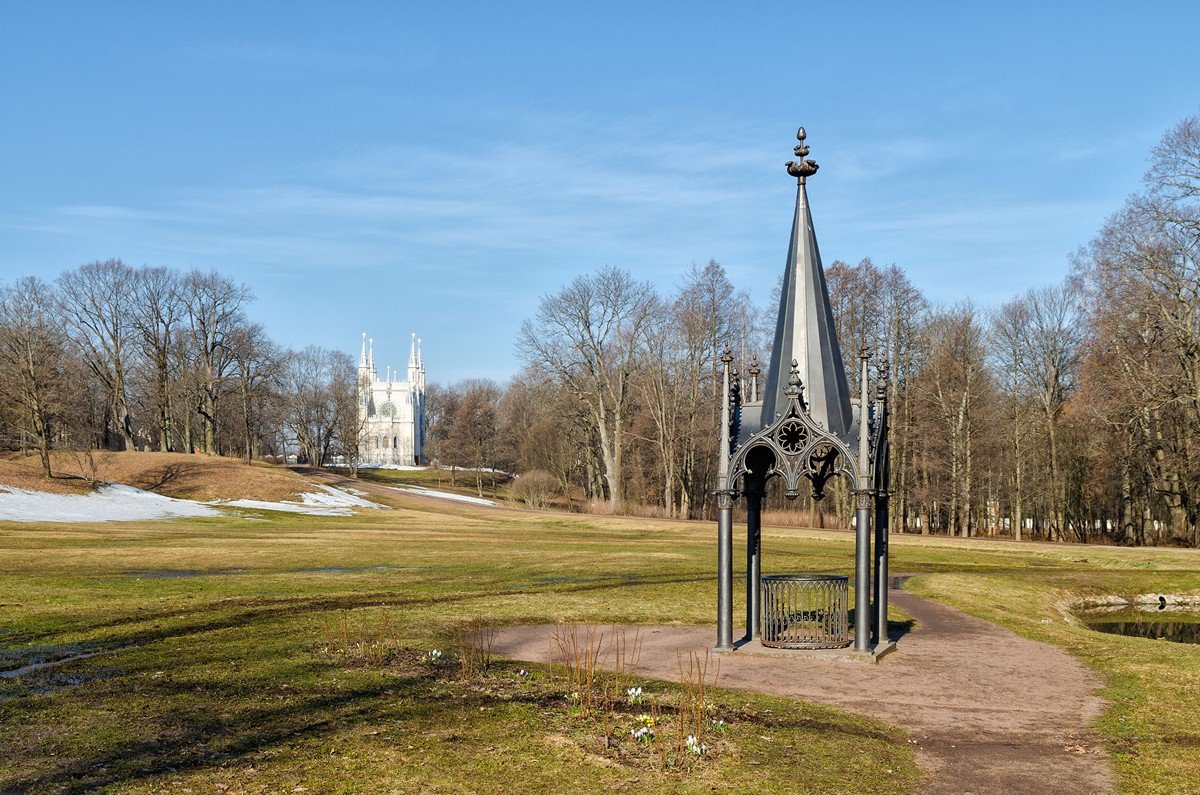
[[[94,654],[0,679],[0,790],[658,793],[754,776],[762,791],[919,791],[902,730],[835,710],[718,692],[710,753],[656,755],[619,739],[644,710],[589,717],[528,665],[461,675],[470,621],[712,622],[709,525],[394,504],[0,527],[0,670]],[[1108,677],[1096,731],[1126,791],[1194,791],[1200,646],[1103,635],[1061,605],[1200,592],[1200,557],[919,537],[893,549],[893,570],[922,574],[913,591]],[[768,572],[851,564],[848,534],[766,533]],[[433,648],[445,658],[427,662]],[[665,727],[680,685],[636,681]]]

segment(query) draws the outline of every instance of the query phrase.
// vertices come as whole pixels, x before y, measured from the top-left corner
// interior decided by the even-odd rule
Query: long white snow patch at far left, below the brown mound
[[[172,516],[218,516],[211,506],[175,500],[120,484],[91,494],[48,494],[0,486],[0,520],[5,521],[139,521]]]

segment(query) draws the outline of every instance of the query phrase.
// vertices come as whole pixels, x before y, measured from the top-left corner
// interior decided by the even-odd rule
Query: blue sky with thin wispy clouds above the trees
[[[748,10],[750,8],[750,10]],[[504,378],[540,294],[827,263],[1061,277],[1200,112],[1200,4],[0,5],[0,279],[215,267],[286,345]]]

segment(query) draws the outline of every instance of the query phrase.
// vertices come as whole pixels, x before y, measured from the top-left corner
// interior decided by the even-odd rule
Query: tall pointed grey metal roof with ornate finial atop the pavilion
[[[804,145],[803,127],[796,137],[800,141],[796,154],[803,157],[809,154],[809,148]],[[784,271],[780,291],[770,366],[762,394],[762,425],[770,425],[776,412],[787,406],[785,390],[794,360],[809,413],[839,438],[850,442],[857,434],[853,429],[850,384],[841,361],[841,348],[838,345],[838,331],[834,328],[829,291],[826,287],[805,186],[806,178],[816,171],[817,165],[811,160],[787,163],[787,173],[798,181],[796,216],[792,220],[787,269]]]

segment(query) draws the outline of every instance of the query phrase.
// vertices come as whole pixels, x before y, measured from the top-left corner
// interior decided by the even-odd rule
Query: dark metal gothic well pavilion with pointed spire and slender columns
[[[848,582],[838,575],[762,575],[761,516],[767,484],[780,482],[794,500],[802,489],[821,500],[841,477],[854,497],[853,650],[881,654],[887,634],[888,468],[887,390],[869,389],[869,353],[859,354],[858,394],[851,391],[829,305],[824,269],[809,209],[805,132],[797,133],[787,173],[796,178],[796,214],[764,383],[751,366],[731,378],[721,357],[722,422],[718,467],[716,650],[733,651],[733,503],[746,509],[746,638],[779,648],[836,648],[851,644]],[[881,372],[886,367],[878,369]],[[762,387],[760,389],[760,385]],[[874,572],[871,528],[875,530]],[[872,578],[874,574],[874,578]],[[742,644],[739,644],[742,645]]]

